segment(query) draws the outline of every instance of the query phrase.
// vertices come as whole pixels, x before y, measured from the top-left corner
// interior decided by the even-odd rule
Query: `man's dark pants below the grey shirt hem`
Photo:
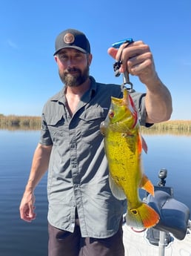
[[[56,229],[49,224],[48,256],[124,256],[122,227],[113,237],[81,237],[76,225],[73,233]]]

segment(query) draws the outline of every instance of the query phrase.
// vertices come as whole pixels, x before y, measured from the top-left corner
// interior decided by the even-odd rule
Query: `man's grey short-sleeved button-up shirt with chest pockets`
[[[110,237],[118,231],[125,201],[113,197],[108,183],[107,159],[100,124],[110,108],[111,96],[122,97],[118,85],[97,83],[84,93],[70,116],[64,89],[44,105],[42,145],[53,145],[47,180],[48,220],[52,226],[73,232],[75,211],[82,237]],[[132,93],[142,125],[144,96]]]

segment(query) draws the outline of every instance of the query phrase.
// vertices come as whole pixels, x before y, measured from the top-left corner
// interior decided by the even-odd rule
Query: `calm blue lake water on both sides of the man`
[[[30,171],[39,131],[0,131],[0,255],[47,256],[46,177],[36,188],[37,218],[25,223],[19,204]],[[167,168],[167,186],[175,199],[191,209],[191,137],[144,135],[149,148],[143,154],[144,171],[153,184],[158,171]]]

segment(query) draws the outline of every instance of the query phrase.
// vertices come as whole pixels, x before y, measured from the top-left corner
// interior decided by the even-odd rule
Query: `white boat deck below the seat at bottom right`
[[[159,247],[150,244],[146,238],[146,232],[134,232],[129,226],[124,224],[124,248],[125,256],[158,256]],[[165,247],[165,256],[191,256],[191,221],[188,234],[184,240],[173,237]]]

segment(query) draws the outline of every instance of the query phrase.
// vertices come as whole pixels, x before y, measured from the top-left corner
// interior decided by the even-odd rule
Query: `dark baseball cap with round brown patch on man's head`
[[[74,48],[76,50],[80,50],[82,53],[90,53],[90,42],[88,41],[84,33],[70,28],[62,31],[56,37],[56,52],[54,53],[54,55],[56,55],[59,50],[64,48]]]

